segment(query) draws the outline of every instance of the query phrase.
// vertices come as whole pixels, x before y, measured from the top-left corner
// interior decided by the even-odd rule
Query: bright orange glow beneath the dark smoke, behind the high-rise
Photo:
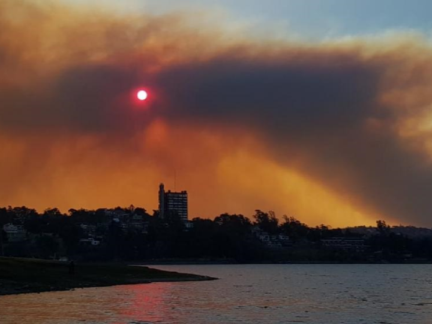
[[[32,145],[45,140],[35,139]],[[62,138],[53,144],[38,177],[28,178],[13,195],[3,195],[0,204],[38,210],[56,206],[63,212],[133,204],[151,214],[157,209],[159,183],[173,189],[176,168],[177,188],[189,192],[190,219],[221,213],[251,218],[255,209],[274,210],[280,218],[295,216],[310,226],[373,225],[378,219],[360,211],[347,197],[267,160],[262,143],[242,133],[216,136],[212,130],[176,129],[156,120],[132,142],[140,145],[139,151],[124,146],[122,151],[110,152],[100,147],[97,137]],[[0,143],[25,160],[25,144],[1,138]],[[200,156],[192,156],[191,150]],[[55,181],[47,182],[51,176]]]

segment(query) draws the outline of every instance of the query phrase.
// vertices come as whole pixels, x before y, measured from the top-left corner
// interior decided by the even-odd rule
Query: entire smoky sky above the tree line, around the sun
[[[86,3],[0,3],[0,205],[432,226],[428,1]]]

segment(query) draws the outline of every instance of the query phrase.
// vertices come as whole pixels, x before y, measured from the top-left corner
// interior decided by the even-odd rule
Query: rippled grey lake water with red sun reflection
[[[151,267],[220,280],[0,296],[0,323],[432,323],[432,265]]]

